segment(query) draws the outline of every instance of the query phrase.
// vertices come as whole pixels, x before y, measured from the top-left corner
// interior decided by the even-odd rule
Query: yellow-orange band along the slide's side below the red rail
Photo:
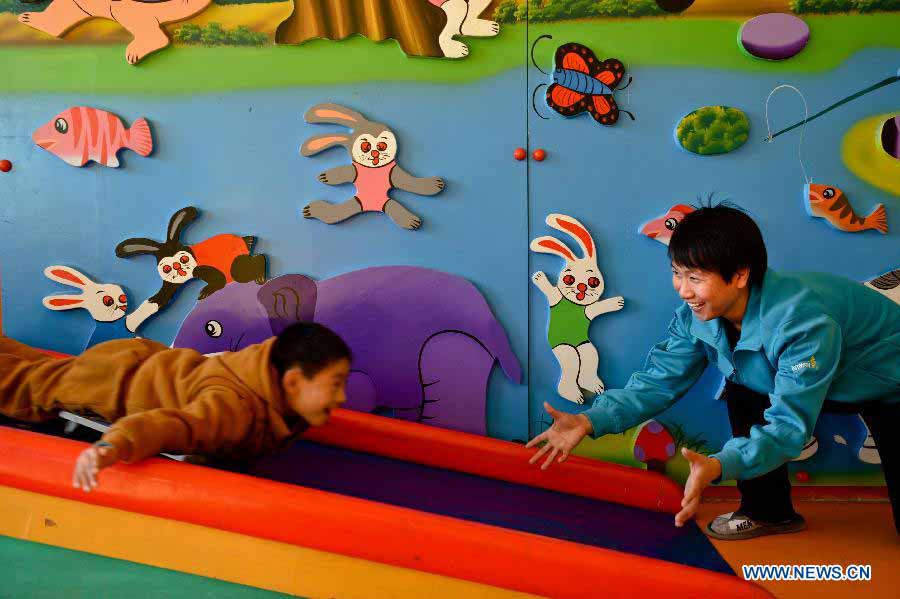
[[[3,486],[0,535],[303,597],[535,597]]]

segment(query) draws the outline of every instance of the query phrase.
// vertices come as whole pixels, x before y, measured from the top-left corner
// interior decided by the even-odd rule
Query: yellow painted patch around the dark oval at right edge
[[[884,122],[900,110],[862,120],[847,131],[841,142],[841,157],[854,175],[879,189],[900,196],[900,160],[881,146]]]

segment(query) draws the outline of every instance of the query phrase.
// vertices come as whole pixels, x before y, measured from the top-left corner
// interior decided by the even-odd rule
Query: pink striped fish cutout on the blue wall
[[[72,166],[84,166],[93,160],[117,168],[116,152],[122,148],[141,156],[149,156],[153,151],[153,136],[146,119],[139,118],[126,129],[113,113],[88,106],[64,110],[38,128],[31,139]]]

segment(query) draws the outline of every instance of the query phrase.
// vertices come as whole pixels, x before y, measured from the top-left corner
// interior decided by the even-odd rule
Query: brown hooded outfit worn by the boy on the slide
[[[0,413],[33,422],[59,410],[97,414],[113,422],[103,440],[125,462],[160,452],[265,454],[306,428],[282,396],[273,343],[205,357],[122,339],[57,359],[0,337]]]

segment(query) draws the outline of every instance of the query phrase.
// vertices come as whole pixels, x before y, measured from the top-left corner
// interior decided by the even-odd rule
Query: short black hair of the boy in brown
[[[350,348],[337,333],[314,322],[298,322],[275,339],[269,361],[278,376],[298,366],[308,379],[338,360],[351,358]]]

